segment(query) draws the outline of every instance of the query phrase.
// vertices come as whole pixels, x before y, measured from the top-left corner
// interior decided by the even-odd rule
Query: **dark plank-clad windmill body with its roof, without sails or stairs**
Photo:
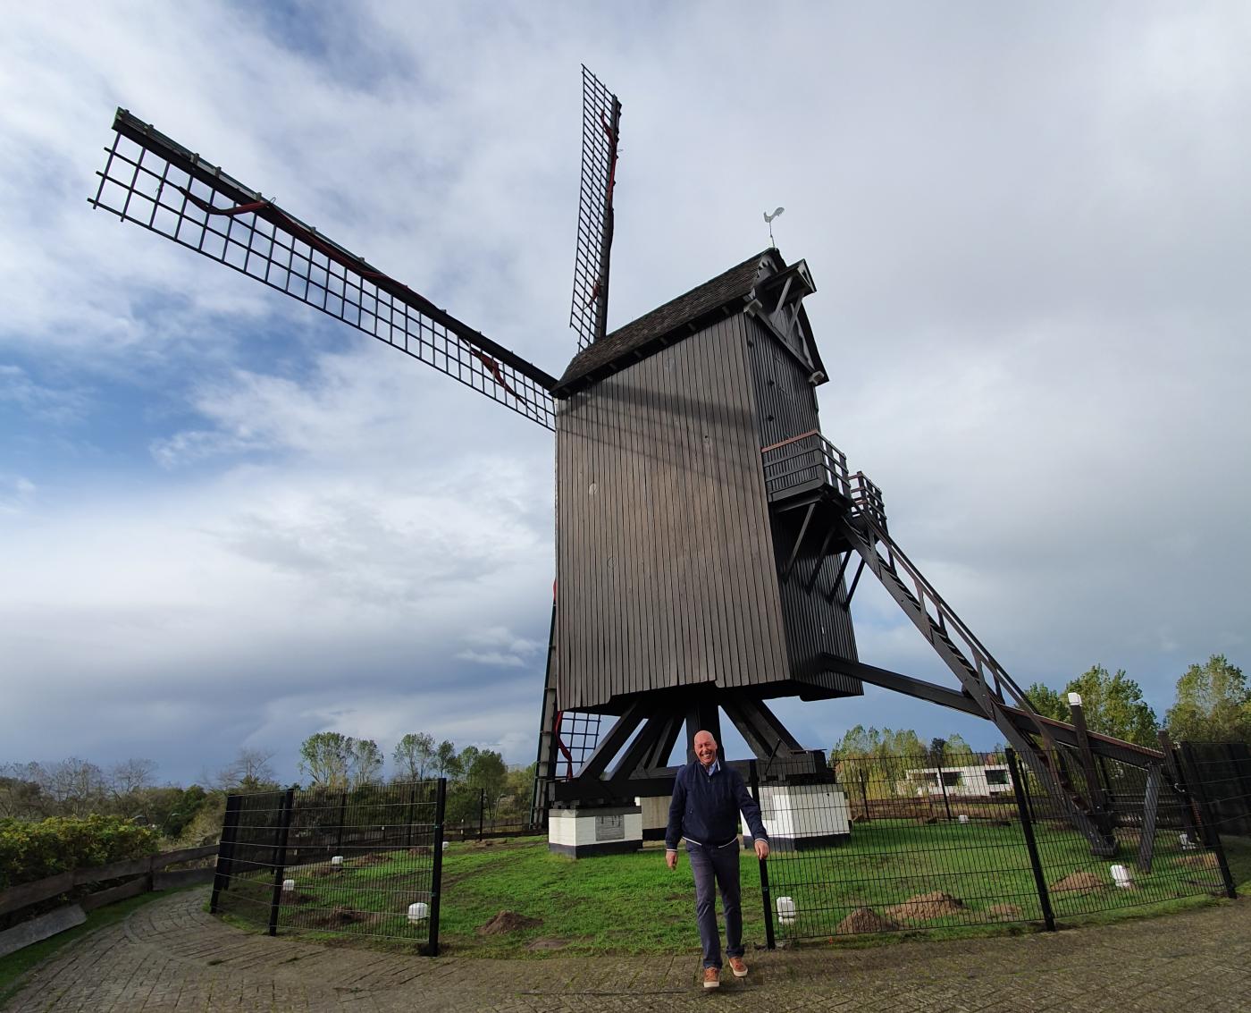
[[[784,766],[803,750],[766,700],[862,691],[829,665],[856,660],[844,575],[809,551],[779,578],[793,515],[771,508],[762,465],[762,447],[819,440],[812,291],[806,263],[764,250],[592,344],[553,391],[555,699],[623,717],[618,739],[642,728],[609,778],[626,790],[664,790],[656,761],[683,721],[716,731],[721,710]],[[823,475],[812,458],[784,477]]]

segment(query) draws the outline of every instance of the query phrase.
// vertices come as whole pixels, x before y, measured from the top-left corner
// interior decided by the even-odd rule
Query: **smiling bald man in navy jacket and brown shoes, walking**
[[[726,913],[726,955],[736,978],[747,977],[743,963],[743,912],[738,882],[738,814],[756,839],[756,856],[769,856],[769,835],[761,821],[761,806],[747,794],[737,770],[717,760],[717,740],[697,731],[696,760],[678,771],[669,803],[669,825],[664,831],[664,860],[678,868],[678,839],[687,839],[691,870],[696,877],[696,920],[703,944],[704,988],[721,988],[721,933],[717,932],[717,898],[721,888]]]

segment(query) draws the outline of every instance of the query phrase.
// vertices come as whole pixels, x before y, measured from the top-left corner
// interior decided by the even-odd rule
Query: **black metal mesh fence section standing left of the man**
[[[226,799],[210,910],[439,952],[447,780]]]

